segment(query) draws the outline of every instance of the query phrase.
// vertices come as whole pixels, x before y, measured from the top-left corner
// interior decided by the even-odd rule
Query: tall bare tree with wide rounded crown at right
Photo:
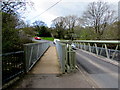
[[[110,9],[106,2],[92,2],[88,5],[87,11],[83,15],[87,26],[93,26],[98,39],[103,34],[106,27],[115,22],[115,11]]]

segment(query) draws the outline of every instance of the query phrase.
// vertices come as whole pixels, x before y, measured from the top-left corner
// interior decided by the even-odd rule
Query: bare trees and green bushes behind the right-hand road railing
[[[118,40],[116,11],[106,2],[91,2],[81,17],[60,16],[52,21],[51,33],[59,39]]]

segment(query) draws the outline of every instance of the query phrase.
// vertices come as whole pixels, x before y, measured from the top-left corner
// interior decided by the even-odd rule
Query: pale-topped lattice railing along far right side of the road
[[[73,43],[79,49],[120,61],[120,41],[75,40]]]

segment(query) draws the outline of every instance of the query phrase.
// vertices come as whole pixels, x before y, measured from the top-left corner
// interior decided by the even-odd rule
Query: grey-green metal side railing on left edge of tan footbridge
[[[28,72],[49,47],[49,42],[25,44],[25,71]]]

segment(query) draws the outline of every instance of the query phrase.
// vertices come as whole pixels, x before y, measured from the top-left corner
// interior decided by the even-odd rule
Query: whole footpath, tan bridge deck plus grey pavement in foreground
[[[81,71],[61,74],[56,47],[51,46],[33,69],[13,88],[92,88]],[[12,90],[11,89],[11,90]]]

